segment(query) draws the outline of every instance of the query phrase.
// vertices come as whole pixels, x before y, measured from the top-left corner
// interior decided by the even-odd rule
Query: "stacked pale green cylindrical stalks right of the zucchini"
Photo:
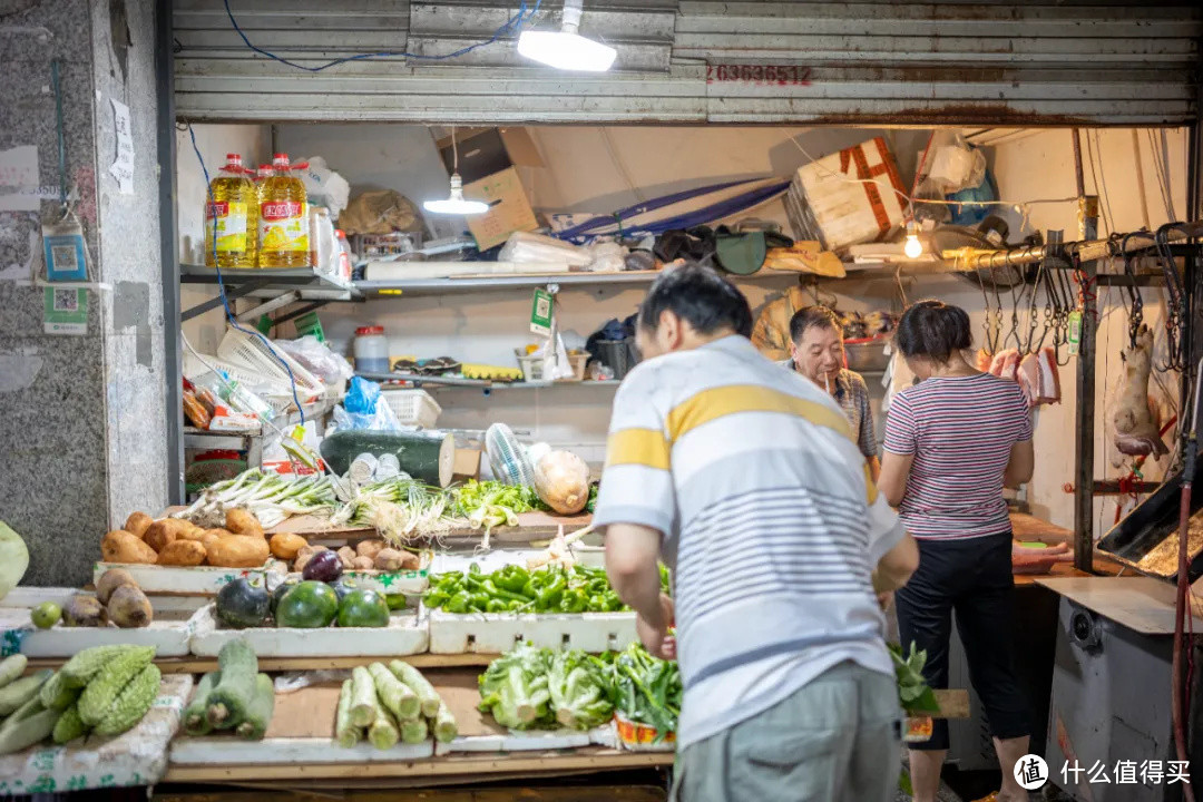
[[[460,733],[455,717],[417,669],[393,660],[357,666],[343,683],[334,714],[334,743],[344,749],[366,739],[377,749],[421,743],[433,733],[440,743]]]

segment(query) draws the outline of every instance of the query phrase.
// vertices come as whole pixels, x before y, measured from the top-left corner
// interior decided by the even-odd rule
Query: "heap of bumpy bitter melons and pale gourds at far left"
[[[59,671],[22,677],[26,660],[0,663],[0,755],[46,738],[71,743],[89,732],[113,737],[132,729],[159,695],[153,646],[99,646]]]

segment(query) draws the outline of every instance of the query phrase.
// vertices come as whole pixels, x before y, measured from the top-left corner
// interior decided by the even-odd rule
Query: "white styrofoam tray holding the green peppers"
[[[467,613],[426,610],[432,654],[502,654],[525,641],[550,649],[621,652],[639,640],[634,612]]]

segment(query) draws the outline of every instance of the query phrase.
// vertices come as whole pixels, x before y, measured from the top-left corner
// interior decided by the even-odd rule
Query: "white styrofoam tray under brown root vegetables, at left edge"
[[[63,606],[71,596],[94,595],[71,588],[17,588],[0,601],[0,654],[19,650],[28,658],[70,658],[76,652],[93,646],[130,643],[153,646],[161,658],[178,658],[188,654],[191,637],[191,611],[161,606],[149,596],[154,620],[141,629],[108,626],[65,626],[55,624],[51,629],[37,629],[30,620],[30,612],[43,601]]]

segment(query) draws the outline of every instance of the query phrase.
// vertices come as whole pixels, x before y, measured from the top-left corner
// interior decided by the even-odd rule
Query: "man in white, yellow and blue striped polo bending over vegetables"
[[[891,800],[901,713],[875,590],[917,549],[838,405],[751,328],[710,268],[648,291],[594,516],[606,570],[644,644],[681,664],[675,798]]]

